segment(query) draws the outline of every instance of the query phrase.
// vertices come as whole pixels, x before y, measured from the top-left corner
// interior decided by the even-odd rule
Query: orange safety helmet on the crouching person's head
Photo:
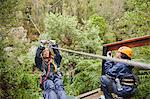
[[[130,47],[127,47],[127,46],[120,47],[118,49],[118,52],[121,52],[121,53],[127,55],[129,58],[131,58],[133,55],[132,49]]]

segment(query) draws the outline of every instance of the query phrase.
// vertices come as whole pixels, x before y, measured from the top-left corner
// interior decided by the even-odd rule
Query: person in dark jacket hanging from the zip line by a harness
[[[44,99],[67,99],[63,86],[62,75],[59,71],[62,57],[58,49],[45,48],[49,44],[46,40],[41,40],[41,45],[36,50],[35,63],[42,71],[40,77],[40,87],[44,90]],[[52,47],[58,47],[51,42]]]

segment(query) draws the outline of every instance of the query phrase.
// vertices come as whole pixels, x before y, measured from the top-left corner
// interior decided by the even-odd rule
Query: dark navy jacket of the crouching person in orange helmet
[[[108,75],[108,77],[110,77],[112,79],[115,79],[115,78],[120,79],[123,90],[118,91],[118,89],[116,89],[116,87],[113,88],[114,92],[118,96],[121,96],[121,97],[130,96],[136,92],[135,78],[132,73],[132,69],[133,69],[132,66],[125,64],[125,63],[121,63],[121,62],[114,63],[111,61],[106,61],[104,64],[104,68],[105,68],[106,76]],[[123,84],[122,80],[125,80],[125,79],[134,80],[134,82],[133,82],[134,85],[128,86],[126,84]],[[117,86],[117,84],[116,84],[116,86]]]

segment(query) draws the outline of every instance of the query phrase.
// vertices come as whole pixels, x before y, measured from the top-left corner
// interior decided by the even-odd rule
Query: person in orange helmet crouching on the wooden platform
[[[131,60],[132,55],[131,48],[122,46],[118,49],[115,57]],[[107,56],[111,56],[110,51]],[[123,99],[129,99],[135,93],[135,78],[132,69],[133,66],[122,62],[106,61],[104,63],[105,75],[102,75],[100,80],[105,99],[113,99],[111,93],[115,93]]]

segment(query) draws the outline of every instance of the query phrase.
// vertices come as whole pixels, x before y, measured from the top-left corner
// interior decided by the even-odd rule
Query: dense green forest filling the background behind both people
[[[38,99],[35,50],[41,39],[60,47],[102,54],[102,45],[150,34],[149,0],[0,0],[0,98]],[[34,27],[35,22],[39,31]],[[150,63],[150,46],[134,48],[133,60]],[[62,52],[68,95],[99,87],[101,60]],[[133,99],[150,98],[150,71],[140,78]]]

